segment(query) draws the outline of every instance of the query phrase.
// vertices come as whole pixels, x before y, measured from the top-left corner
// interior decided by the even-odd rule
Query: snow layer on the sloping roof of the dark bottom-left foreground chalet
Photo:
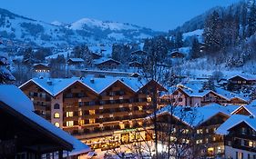
[[[83,144],[72,135],[67,134],[65,131],[57,128],[55,125],[46,121],[46,119],[35,114],[33,112],[34,106],[32,102],[29,101],[26,94],[24,94],[15,85],[7,85],[7,84],[0,85],[0,92],[1,92],[0,101],[10,106],[12,109],[15,110],[15,112],[22,114],[27,119],[43,127],[47,131],[51,132],[52,134],[55,134],[57,137],[66,141],[67,143],[72,144],[74,150],[70,153],[71,155],[82,154],[82,153],[84,154],[90,151],[90,148],[87,146],[87,144]],[[16,100],[14,100],[14,98]],[[4,106],[4,105],[0,105],[0,106]]]

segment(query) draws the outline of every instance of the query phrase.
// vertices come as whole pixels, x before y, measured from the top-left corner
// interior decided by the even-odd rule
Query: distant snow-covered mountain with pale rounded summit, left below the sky
[[[72,24],[51,24],[0,9],[0,36],[15,45],[67,47],[77,44],[135,42],[162,34],[138,25],[83,18]]]

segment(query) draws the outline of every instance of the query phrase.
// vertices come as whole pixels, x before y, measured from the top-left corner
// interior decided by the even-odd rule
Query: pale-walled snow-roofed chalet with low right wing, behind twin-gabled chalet
[[[250,100],[246,94],[235,94],[220,87],[214,90],[204,89],[203,81],[189,81],[173,87],[169,95],[162,95],[162,101],[169,101],[173,105],[201,106],[205,104],[248,104]]]

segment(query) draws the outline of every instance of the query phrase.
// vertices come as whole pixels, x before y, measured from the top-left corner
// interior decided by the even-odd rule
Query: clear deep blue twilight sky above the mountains
[[[211,7],[240,0],[1,0],[0,7],[45,22],[83,17],[168,31]]]

